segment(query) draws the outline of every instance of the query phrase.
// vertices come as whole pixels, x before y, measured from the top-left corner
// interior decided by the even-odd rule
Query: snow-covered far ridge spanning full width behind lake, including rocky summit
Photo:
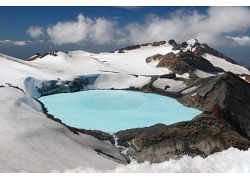
[[[128,88],[131,83],[143,84],[147,82],[148,78],[145,76],[169,74],[173,71],[173,69],[167,66],[157,66],[160,59],[147,63],[147,58],[156,54],[164,56],[171,52],[178,56],[178,54],[186,51],[190,51],[197,56],[202,55],[207,61],[207,64],[210,64],[211,67],[220,68],[224,71],[231,71],[239,75],[250,75],[247,68],[234,63],[234,61],[221,55],[221,53],[217,53],[219,57],[215,56],[216,53],[209,54],[213,52],[211,48],[210,51],[205,51],[203,49],[203,53],[201,53],[201,50],[197,51],[197,49],[203,45],[200,45],[195,39],[182,43],[182,45],[184,44],[183,47],[180,45],[180,47],[177,48],[176,46],[178,44],[176,44],[175,42],[173,43],[173,40],[169,42],[161,41],[129,46],[122,50],[99,54],[85,51],[51,51],[42,56],[36,54],[28,61],[0,54],[0,85],[10,83],[26,91],[28,88],[27,83],[25,85],[27,77],[32,77],[39,81],[48,81],[58,78],[60,80],[72,80],[77,76],[101,74],[106,75],[104,76],[105,78],[103,76],[99,77],[102,78],[102,82],[104,82],[103,79],[106,80],[106,86],[108,81],[110,81],[116,88],[119,88],[113,82],[113,78],[121,76],[124,81],[119,81],[120,88]],[[222,57],[225,57],[225,59]],[[166,61],[168,61],[168,59]],[[197,59],[197,62],[199,62],[199,59]],[[191,68],[194,69],[196,76],[203,78],[221,73],[207,72],[204,69],[195,67]],[[178,74],[178,71],[176,72],[177,77],[189,78],[190,76],[189,73]],[[139,75],[139,77],[135,78],[133,75]],[[109,88],[109,86],[107,86],[107,88]]]

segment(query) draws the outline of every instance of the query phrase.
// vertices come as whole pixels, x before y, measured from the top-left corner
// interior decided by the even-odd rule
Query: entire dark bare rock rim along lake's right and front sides
[[[198,79],[179,96],[203,111],[191,121],[155,125],[116,133],[118,143],[139,162],[163,162],[183,155],[206,157],[231,146],[250,147],[250,85],[233,73]]]

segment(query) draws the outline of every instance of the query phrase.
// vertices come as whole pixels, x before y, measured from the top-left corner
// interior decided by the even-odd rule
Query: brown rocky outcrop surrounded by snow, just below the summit
[[[177,74],[194,74],[197,69],[205,72],[223,71],[218,67],[214,67],[202,56],[196,55],[190,51],[179,52],[177,54],[172,52],[168,53],[160,59],[156,67],[166,67]]]

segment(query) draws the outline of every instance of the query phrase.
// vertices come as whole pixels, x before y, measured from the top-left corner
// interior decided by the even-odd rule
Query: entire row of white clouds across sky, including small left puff
[[[205,12],[179,9],[168,16],[154,14],[145,16],[143,22],[117,25],[116,21],[98,17],[89,18],[80,14],[75,21],[57,22],[47,27],[50,41],[57,45],[68,43],[135,44],[175,39],[183,42],[197,38],[200,42],[219,47],[250,45],[244,34],[250,29],[250,8],[209,7]],[[41,27],[31,26],[27,33],[31,37],[42,34]]]

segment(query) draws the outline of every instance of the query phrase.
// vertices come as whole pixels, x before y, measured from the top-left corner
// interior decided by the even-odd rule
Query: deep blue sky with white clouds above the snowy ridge
[[[25,59],[51,49],[198,38],[250,66],[248,17],[248,7],[0,7],[0,52]]]

